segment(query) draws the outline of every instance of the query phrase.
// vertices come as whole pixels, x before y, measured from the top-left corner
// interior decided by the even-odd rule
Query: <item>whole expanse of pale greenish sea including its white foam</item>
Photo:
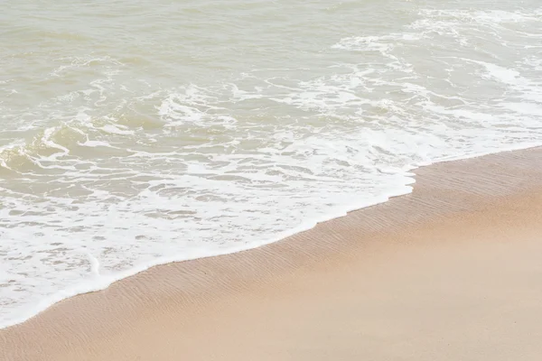
[[[0,9],[0,327],[542,144],[539,0]]]

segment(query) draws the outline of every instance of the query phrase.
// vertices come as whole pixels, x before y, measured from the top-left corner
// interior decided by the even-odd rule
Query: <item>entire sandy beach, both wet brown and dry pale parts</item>
[[[412,195],[62,301],[0,330],[0,360],[541,360],[542,149],[416,173]]]

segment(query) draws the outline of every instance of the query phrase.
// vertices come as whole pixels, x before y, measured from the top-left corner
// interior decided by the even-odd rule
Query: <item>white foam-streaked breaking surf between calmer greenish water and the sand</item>
[[[0,103],[0,327],[406,194],[418,166],[542,144],[538,14],[416,10],[318,66],[174,86],[129,57],[55,58],[41,81],[64,93]]]

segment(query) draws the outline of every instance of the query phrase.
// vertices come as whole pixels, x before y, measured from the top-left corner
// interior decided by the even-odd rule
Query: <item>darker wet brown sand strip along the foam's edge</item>
[[[248,310],[257,309],[260,305],[253,299],[255,295],[262,301],[262,294],[269,297],[270,290],[284,296],[278,302],[285,303],[285,299],[297,294],[288,287],[288,282],[316,282],[314,274],[342,274],[337,270],[345,264],[357,264],[354,261],[374,263],[374,259],[383,255],[397,257],[398,250],[405,251],[410,243],[429,247],[431,242],[425,234],[431,227],[490,214],[497,219],[499,215],[491,213],[495,209],[510,211],[510,207],[519,209],[526,199],[541,199],[540,159],[542,149],[533,148],[418,168],[414,171],[414,192],[406,196],[361,208],[276,243],[229,255],[155,266],[114,282],[104,291],[60,301],[32,319],[0,329],[0,350],[6,350],[5,358],[0,358],[130,359],[120,357],[122,354],[115,354],[115,350],[107,351],[105,345],[111,347],[109,338],[125,341],[125,344],[118,342],[118,348],[134,346],[130,343],[133,341],[128,341],[141,337],[143,330],[156,330],[155,321],[169,317],[185,320],[180,325],[186,327],[185,331],[197,331],[200,322],[209,324],[210,315],[222,319],[217,316],[219,310],[226,314],[234,310],[232,301],[248,303]],[[531,204],[531,208],[535,206]],[[482,236],[491,233],[487,225],[477,232]],[[410,239],[406,245],[397,242],[396,238],[404,234],[416,239]],[[457,242],[464,243],[465,235],[453,236],[459,239]],[[368,269],[364,271],[371,273]],[[318,289],[317,283],[311,290]],[[271,304],[274,305],[276,302]],[[174,330],[179,331],[180,326],[170,326],[164,328],[169,332],[164,331],[163,338],[171,338]],[[24,343],[36,347],[29,349],[23,347]],[[170,359],[168,355],[164,357]]]

